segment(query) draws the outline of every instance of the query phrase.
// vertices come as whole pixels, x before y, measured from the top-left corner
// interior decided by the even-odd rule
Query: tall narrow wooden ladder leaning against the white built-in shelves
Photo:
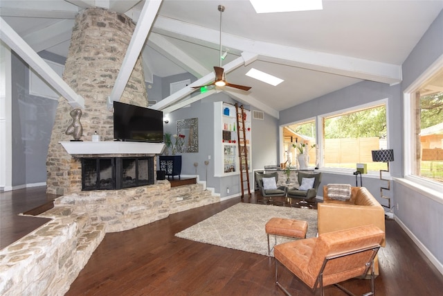
[[[244,198],[244,183],[248,185],[248,197],[251,198],[251,186],[249,185],[249,165],[248,165],[248,146],[246,146],[246,128],[244,126],[244,108],[235,103],[235,113],[237,114],[237,139],[238,139],[238,157],[240,163],[240,184],[242,184],[242,199]]]

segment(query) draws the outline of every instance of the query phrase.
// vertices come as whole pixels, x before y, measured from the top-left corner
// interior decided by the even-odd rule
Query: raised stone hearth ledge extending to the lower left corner
[[[64,295],[107,232],[140,227],[219,202],[201,184],[168,181],[120,191],[82,191],[55,200],[52,218],[0,250],[0,295]]]

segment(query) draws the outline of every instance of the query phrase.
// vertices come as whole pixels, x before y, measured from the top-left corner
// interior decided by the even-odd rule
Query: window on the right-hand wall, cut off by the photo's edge
[[[443,69],[413,91],[410,110],[413,149],[407,173],[443,184]]]

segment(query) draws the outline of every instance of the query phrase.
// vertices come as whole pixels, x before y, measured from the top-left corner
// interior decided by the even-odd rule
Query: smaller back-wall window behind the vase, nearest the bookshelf
[[[318,166],[318,150],[316,149],[316,121],[310,119],[300,123],[292,123],[283,127],[284,157],[292,166],[297,165],[298,150],[294,146],[305,144],[309,155],[309,166]],[[289,159],[289,161],[288,161]]]

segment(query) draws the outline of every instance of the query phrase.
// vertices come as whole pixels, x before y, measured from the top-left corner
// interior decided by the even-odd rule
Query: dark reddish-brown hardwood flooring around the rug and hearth
[[[21,191],[14,194],[14,199],[24,199],[15,200],[15,211],[26,202],[33,203],[37,195],[46,198],[44,188]],[[3,200],[10,200],[8,196],[0,193],[2,224],[6,209]],[[66,295],[284,295],[274,284],[273,259],[174,236],[237,202],[257,203],[258,199],[258,194],[243,201],[233,198],[126,232],[107,234]],[[14,232],[13,228],[6,231]],[[2,230],[1,237],[3,234]],[[376,295],[442,295],[443,275],[395,220],[386,220],[386,236],[386,247],[379,251]],[[281,282],[292,295],[313,295],[287,270],[280,270]],[[369,284],[367,280],[352,279],[343,286],[362,294],[369,290]],[[328,287],[325,295],[343,292]]]

